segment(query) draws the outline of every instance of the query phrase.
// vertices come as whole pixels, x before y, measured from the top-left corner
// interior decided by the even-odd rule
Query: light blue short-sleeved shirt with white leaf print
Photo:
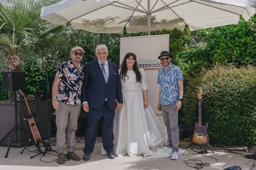
[[[183,80],[181,69],[170,64],[165,71],[164,67],[158,70],[157,83],[160,84],[160,104],[175,104],[179,99],[178,81]]]

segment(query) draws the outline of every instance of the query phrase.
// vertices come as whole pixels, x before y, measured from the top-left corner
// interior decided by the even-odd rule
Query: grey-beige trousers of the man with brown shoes
[[[77,120],[80,115],[82,104],[71,105],[59,101],[59,111],[56,110],[56,149],[58,154],[64,153],[66,144],[67,128],[67,151],[72,152],[75,149],[75,131],[77,130]]]

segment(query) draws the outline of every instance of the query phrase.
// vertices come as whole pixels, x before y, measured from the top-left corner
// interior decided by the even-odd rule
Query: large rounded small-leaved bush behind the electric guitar
[[[217,146],[255,145],[256,68],[215,66],[192,79],[183,96],[180,121],[191,124],[200,89],[207,111],[203,125],[209,124],[210,143]]]

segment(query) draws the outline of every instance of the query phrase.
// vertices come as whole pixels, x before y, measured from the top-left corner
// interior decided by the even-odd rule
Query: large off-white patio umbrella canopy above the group
[[[146,32],[185,25],[191,31],[237,24],[239,16],[248,20],[256,9],[210,0],[65,0],[44,7],[41,18],[58,25],[70,22],[74,29],[94,33]]]

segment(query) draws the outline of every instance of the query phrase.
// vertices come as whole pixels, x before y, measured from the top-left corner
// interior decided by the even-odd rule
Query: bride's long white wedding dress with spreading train
[[[127,71],[129,78],[125,77],[125,82],[121,80],[123,107],[115,110],[113,151],[117,156],[143,154],[145,158],[171,157],[172,149],[165,146],[168,141],[165,126],[150,105],[144,108],[142,90],[147,89],[147,84],[145,71],[139,70],[142,74],[142,83],[136,83],[136,74],[133,70]],[[179,150],[180,155],[186,153],[187,150]],[[103,147],[101,154],[106,154]]]

